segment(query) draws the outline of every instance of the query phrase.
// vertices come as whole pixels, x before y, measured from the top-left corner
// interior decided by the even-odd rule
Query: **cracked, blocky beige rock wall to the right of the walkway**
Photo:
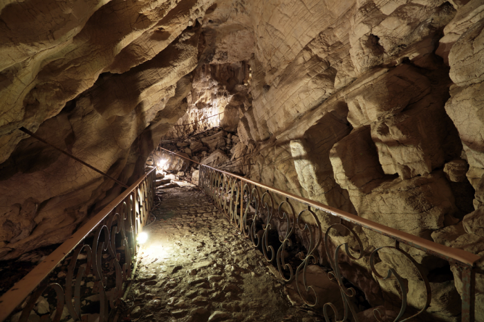
[[[481,254],[472,243],[484,245],[478,233],[461,228],[462,220],[479,216],[474,210],[483,200],[481,1],[240,1],[233,7],[236,14],[219,5],[204,18],[216,39],[215,48],[207,41],[204,63],[234,62],[239,43],[227,48],[226,31],[219,31],[239,34],[241,21],[252,28],[250,105],[239,106],[237,129],[251,152],[244,161],[248,177],[439,243],[463,236],[453,245]],[[244,37],[239,52],[250,41]],[[318,216],[325,230],[332,222]],[[389,243],[358,234],[367,250]],[[429,276],[446,272],[445,281],[431,283],[434,294],[458,299],[457,268],[451,268],[453,286],[443,261],[409,251]],[[397,267],[420,298],[418,276],[402,263],[383,254],[379,269]],[[345,276],[371,299],[375,289],[347,268]],[[375,278],[369,263],[359,270]],[[380,300],[400,305],[395,285],[379,287]],[[431,319],[458,319],[455,302],[441,299],[431,303]]]

